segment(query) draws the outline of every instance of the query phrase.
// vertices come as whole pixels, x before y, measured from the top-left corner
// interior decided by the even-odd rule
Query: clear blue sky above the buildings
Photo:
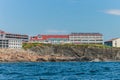
[[[0,29],[10,33],[102,33],[120,37],[120,0],[0,0]]]

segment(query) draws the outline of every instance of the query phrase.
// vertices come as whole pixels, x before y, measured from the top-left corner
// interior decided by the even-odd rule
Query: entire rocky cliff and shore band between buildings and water
[[[0,62],[21,61],[120,61],[119,48],[48,45],[23,49],[0,49]]]

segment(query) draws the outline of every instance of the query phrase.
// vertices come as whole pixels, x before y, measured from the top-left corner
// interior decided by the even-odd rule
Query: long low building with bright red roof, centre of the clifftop
[[[37,35],[30,37],[30,42],[64,44],[69,43],[68,35]]]

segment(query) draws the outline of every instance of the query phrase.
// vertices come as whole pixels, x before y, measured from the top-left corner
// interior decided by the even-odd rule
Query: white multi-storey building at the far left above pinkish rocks
[[[28,42],[29,36],[7,33],[0,30],[0,48],[22,48],[23,42]]]

